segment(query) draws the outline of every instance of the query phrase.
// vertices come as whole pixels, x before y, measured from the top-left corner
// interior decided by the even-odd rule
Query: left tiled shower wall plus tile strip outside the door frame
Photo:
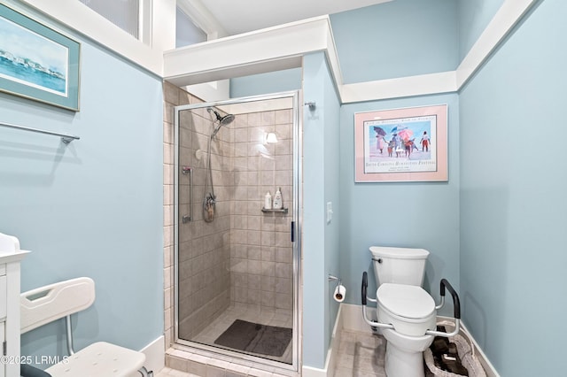
[[[184,90],[165,82],[166,114],[165,129],[168,133],[167,164],[165,181],[167,185],[168,204],[166,204],[167,229],[164,237],[169,241],[166,250],[167,282],[169,289],[166,296],[174,296],[174,126],[173,107],[181,104],[202,103],[200,99],[191,96]],[[203,220],[202,203],[205,193],[206,162],[209,135],[212,130],[211,118],[206,109],[181,112],[179,160],[181,166],[193,169],[192,200],[190,205],[190,175],[179,173],[179,336],[190,339],[198,334],[203,327],[210,324],[220,312],[229,305],[229,244],[230,244],[230,198],[234,181],[223,154],[229,151],[227,129],[221,130],[211,144],[211,165],[213,166],[214,193],[217,196],[215,218],[213,222]],[[171,138],[169,138],[171,137]],[[166,138],[164,137],[164,142]],[[210,188],[209,188],[210,191]],[[192,213],[190,212],[192,207]],[[183,223],[183,216],[192,214],[192,220]],[[168,241],[166,241],[168,242]],[[166,283],[167,283],[166,282]],[[173,302],[166,312],[166,324],[173,340]],[[171,312],[171,313],[169,313]],[[166,327],[166,329],[167,329]],[[171,341],[170,341],[171,342]],[[169,344],[169,343],[168,343]]]

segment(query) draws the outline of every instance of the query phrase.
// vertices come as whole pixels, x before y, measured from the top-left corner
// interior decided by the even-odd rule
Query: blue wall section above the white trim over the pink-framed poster
[[[454,70],[457,3],[396,0],[330,15],[345,83]]]

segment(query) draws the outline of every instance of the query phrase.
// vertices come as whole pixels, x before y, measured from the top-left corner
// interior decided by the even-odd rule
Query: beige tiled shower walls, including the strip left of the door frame
[[[174,341],[174,106],[203,101],[164,82],[164,289],[166,347]],[[292,308],[292,110],[238,114],[212,145],[217,218],[206,224],[201,203],[211,122],[206,109],[184,112],[182,165],[193,171],[193,216],[180,219],[180,323],[195,335],[227,304],[252,304],[268,312]],[[278,142],[267,144],[268,132]],[[222,172],[222,173],[221,173]],[[188,176],[179,174],[181,215],[189,211]],[[263,213],[264,195],[281,187],[290,212]],[[183,227],[186,227],[183,229]],[[187,230],[187,232],[183,232]],[[220,236],[218,236],[220,235]],[[213,300],[210,300],[214,298]],[[210,301],[209,301],[210,300]],[[181,330],[180,330],[181,331]]]

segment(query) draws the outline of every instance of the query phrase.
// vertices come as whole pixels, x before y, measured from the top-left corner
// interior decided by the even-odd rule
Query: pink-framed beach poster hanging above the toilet
[[[354,181],[447,181],[447,104],[354,114]]]

